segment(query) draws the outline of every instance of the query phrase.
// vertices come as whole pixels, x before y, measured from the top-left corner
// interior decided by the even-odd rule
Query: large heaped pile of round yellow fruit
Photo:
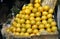
[[[54,9],[47,5],[41,6],[41,0],[35,0],[34,4],[22,7],[6,31],[16,36],[40,35],[44,30],[54,33],[57,31],[57,24],[53,16]]]

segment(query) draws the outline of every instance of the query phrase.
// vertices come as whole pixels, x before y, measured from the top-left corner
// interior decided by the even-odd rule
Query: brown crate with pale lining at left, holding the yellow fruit
[[[14,36],[11,33],[7,33],[5,32],[6,28],[5,27],[1,30],[2,35],[3,35],[3,39],[58,39],[58,32],[55,33],[48,33],[47,32],[42,32],[41,35],[38,36],[30,36],[30,37],[19,37],[19,36]]]

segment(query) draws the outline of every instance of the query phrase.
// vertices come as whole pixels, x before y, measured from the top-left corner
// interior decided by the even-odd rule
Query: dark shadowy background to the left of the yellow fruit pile
[[[0,0],[0,39],[3,39],[1,35],[2,23],[5,23],[7,19],[10,18],[11,15],[9,16],[9,14],[12,13],[11,9],[13,6],[14,9],[16,8],[16,11],[17,9],[21,9],[21,7],[27,3],[29,3],[28,0],[3,0],[3,2]]]

